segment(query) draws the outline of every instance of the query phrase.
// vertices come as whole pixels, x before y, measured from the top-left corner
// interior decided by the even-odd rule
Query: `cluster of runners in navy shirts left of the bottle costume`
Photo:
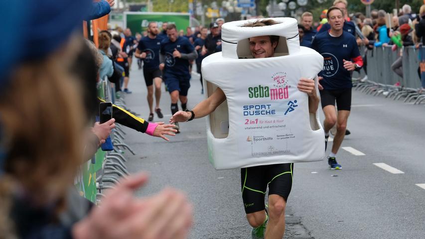
[[[149,106],[148,121],[152,121],[155,112],[159,119],[163,118],[159,102],[161,97],[161,83],[165,83],[171,98],[172,115],[178,111],[178,101],[181,109],[187,110],[187,93],[190,88],[191,66],[196,60],[197,71],[201,73],[201,62],[206,56],[214,53],[221,44],[221,25],[224,20],[211,23],[208,28],[201,27],[199,31],[180,35],[175,24],[162,23],[162,31],[157,22],[149,22],[147,36],[137,44],[135,56],[143,61],[143,77],[147,87],[147,102]],[[202,84],[202,76],[201,76]],[[203,89],[201,90],[203,94]],[[155,108],[153,109],[153,95]],[[178,122],[175,129],[179,131]]]

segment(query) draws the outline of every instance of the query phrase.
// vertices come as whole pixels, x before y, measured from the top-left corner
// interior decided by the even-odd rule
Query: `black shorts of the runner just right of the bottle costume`
[[[351,88],[320,91],[320,102],[322,104],[322,109],[329,105],[335,106],[335,101],[338,111],[350,111]]]

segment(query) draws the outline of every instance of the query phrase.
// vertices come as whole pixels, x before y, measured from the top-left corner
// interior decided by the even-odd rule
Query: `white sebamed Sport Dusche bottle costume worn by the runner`
[[[244,27],[222,26],[222,52],[202,61],[206,97],[217,87],[227,101],[207,117],[208,153],[216,169],[323,160],[324,132],[318,114],[309,114],[308,96],[297,89],[301,77],[313,79],[323,57],[299,46],[297,21]],[[249,37],[280,36],[274,57],[254,59]],[[317,80],[315,81],[317,91]],[[318,93],[317,93],[318,94]]]

